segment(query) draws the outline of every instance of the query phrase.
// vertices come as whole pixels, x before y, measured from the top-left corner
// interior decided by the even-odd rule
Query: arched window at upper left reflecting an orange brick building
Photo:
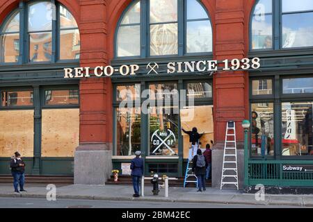
[[[77,22],[54,1],[21,1],[0,29],[0,62],[77,60],[79,51]]]

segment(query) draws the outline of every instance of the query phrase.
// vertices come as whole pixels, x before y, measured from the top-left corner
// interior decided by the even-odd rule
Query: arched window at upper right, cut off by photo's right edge
[[[313,46],[312,0],[259,0],[251,15],[250,49]]]

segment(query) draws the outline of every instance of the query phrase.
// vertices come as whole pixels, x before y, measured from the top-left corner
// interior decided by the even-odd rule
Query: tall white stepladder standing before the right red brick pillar
[[[223,155],[223,169],[220,178],[220,189],[224,185],[238,185],[237,148],[236,148],[236,126],[234,121],[226,124],[225,145]]]

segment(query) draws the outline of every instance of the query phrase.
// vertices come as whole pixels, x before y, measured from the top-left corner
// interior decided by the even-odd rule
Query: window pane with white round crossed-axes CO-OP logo
[[[178,108],[150,108],[150,155],[178,155]]]

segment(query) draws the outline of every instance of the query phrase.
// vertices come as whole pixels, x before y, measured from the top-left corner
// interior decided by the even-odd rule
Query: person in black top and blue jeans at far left
[[[24,190],[25,182],[25,163],[18,152],[15,152],[15,158],[11,159],[10,168],[14,178],[13,185],[15,193],[26,192]],[[19,189],[18,189],[19,186]]]

